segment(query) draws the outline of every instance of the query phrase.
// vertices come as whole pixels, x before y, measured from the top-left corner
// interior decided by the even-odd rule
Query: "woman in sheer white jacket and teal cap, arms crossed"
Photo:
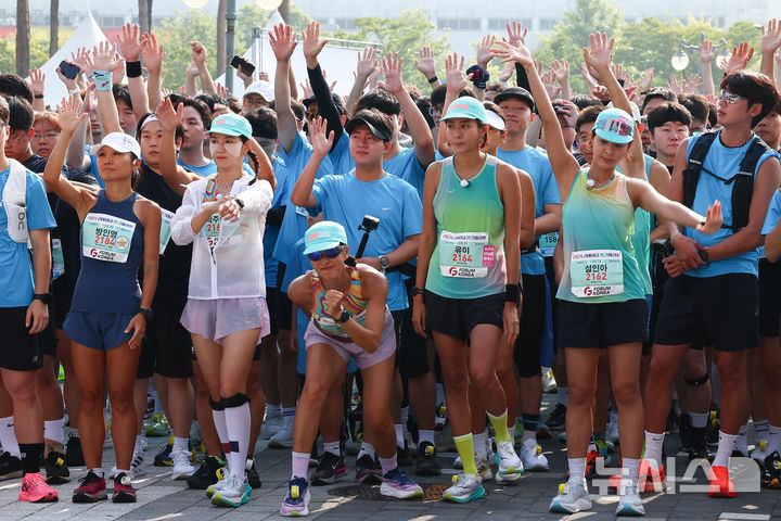
[[[216,117],[208,140],[217,174],[188,185],[170,226],[174,242],[193,244],[181,323],[192,336],[228,459],[229,471],[206,494],[214,505],[239,507],[252,491],[245,475],[251,427],[247,371],[255,347],[270,331],[263,232],[273,189],[242,167],[246,155],[257,164],[249,150],[252,127],[244,117]],[[270,171],[258,174],[273,179]]]

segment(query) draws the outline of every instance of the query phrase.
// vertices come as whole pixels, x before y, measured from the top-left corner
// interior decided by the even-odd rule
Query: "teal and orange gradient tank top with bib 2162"
[[[562,209],[564,272],[556,297],[598,304],[644,298],[635,258],[635,208],[626,177],[589,189],[580,170]]]

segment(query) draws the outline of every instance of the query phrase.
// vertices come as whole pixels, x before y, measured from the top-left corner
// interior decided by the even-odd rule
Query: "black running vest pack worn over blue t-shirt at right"
[[[732,225],[722,224],[721,228],[729,228],[735,233],[748,224],[748,208],[751,207],[752,192],[754,190],[754,170],[756,170],[759,158],[771,149],[761,139],[753,138],[738,167],[738,173],[733,177],[725,179],[703,167],[705,156],[717,136],[718,132],[703,134],[692,147],[687,168],[683,170],[683,204],[690,208],[694,204],[700,171],[712,175],[725,185],[732,185]]]

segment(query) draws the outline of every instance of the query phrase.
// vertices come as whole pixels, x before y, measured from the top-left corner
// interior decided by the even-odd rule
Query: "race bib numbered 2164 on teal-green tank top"
[[[496,246],[487,232],[439,234],[439,270],[445,277],[481,278],[496,264]]]

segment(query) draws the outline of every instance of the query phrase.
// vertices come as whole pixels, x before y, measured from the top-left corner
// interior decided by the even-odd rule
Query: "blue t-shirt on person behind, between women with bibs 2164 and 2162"
[[[545,215],[546,204],[562,204],[559,185],[548,155],[539,150],[526,147],[523,150],[507,151],[499,149],[497,157],[520,168],[532,177],[535,187],[535,218]],[[539,236],[537,236],[539,240]],[[545,257],[540,252],[521,255],[521,272],[545,275]]]

